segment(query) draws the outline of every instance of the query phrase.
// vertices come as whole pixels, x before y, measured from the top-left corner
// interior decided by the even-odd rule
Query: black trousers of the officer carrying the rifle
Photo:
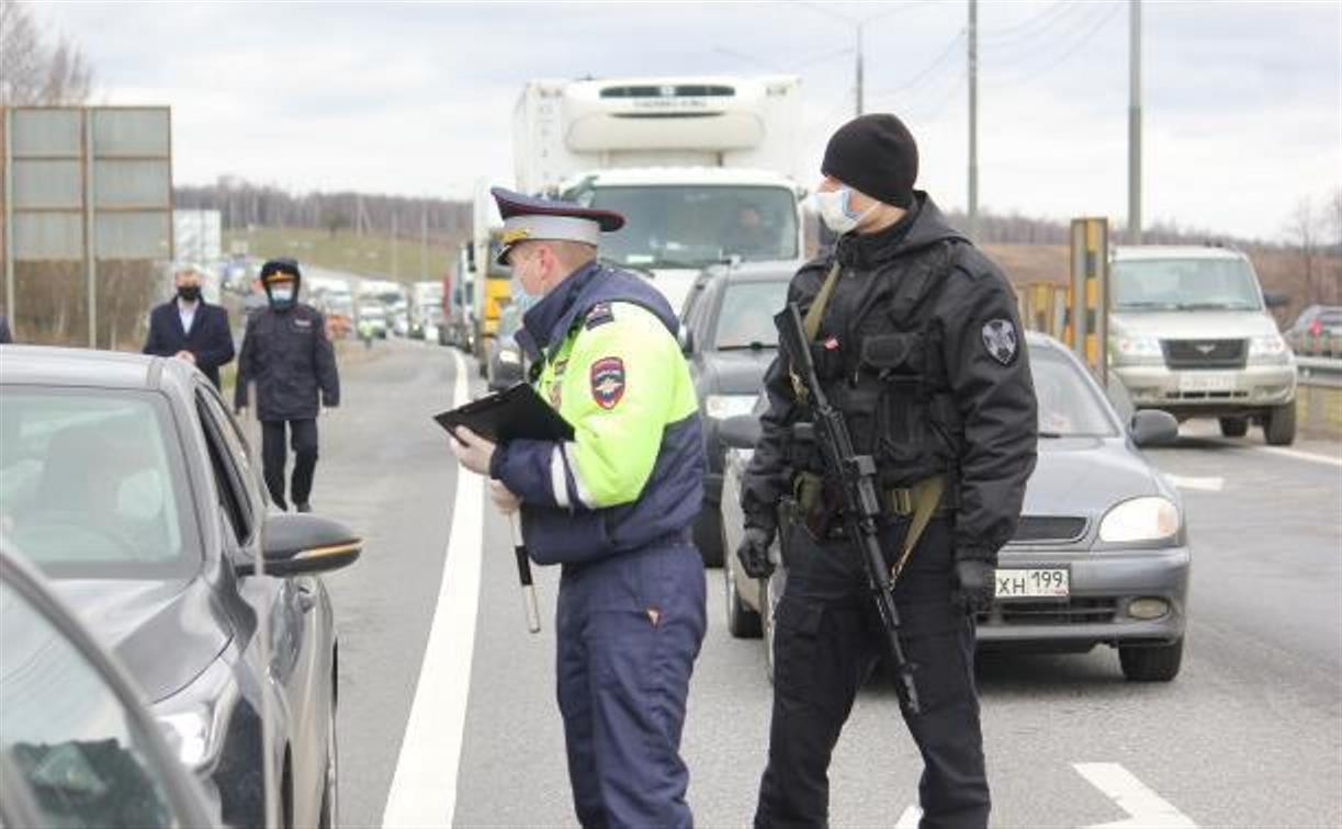
[[[890,524],[882,549],[894,561],[907,523]],[[788,582],[774,636],[769,765],[760,785],[757,828],[825,826],[829,757],[854,698],[886,655],[880,620],[856,551],[781,527]],[[929,524],[899,577],[895,604],[905,655],[914,663],[922,712],[905,723],[923,758],[922,829],[988,825],[973,618],[954,602],[950,526]],[[895,751],[891,751],[891,757]],[[872,758],[880,763],[880,758]],[[890,816],[896,820],[898,816]]]

